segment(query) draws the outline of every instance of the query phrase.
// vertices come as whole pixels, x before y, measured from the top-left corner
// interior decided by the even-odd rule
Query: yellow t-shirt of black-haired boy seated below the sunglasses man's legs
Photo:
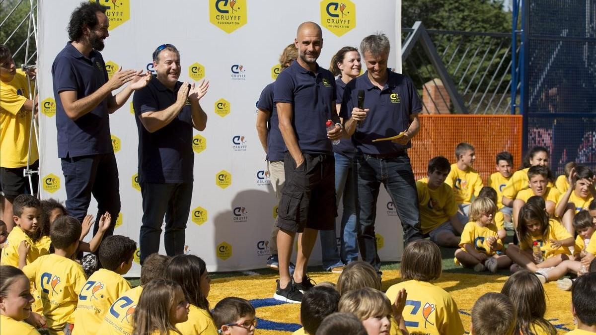
[[[95,333],[112,303],[130,289],[122,275],[108,269],[95,271],[79,293],[73,335]]]

